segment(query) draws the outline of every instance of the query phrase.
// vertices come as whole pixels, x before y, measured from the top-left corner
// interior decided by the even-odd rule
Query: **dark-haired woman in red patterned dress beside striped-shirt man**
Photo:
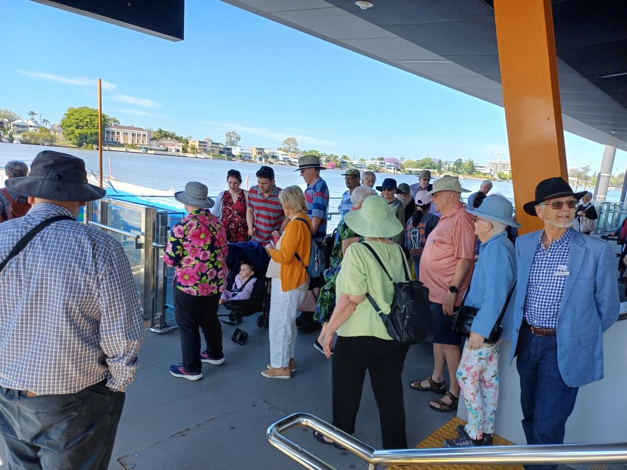
[[[229,170],[226,174],[229,189],[222,191],[216,198],[216,205],[211,213],[222,219],[229,243],[246,241],[248,224],[246,224],[246,198],[248,191],[241,189],[241,174],[238,170]]]

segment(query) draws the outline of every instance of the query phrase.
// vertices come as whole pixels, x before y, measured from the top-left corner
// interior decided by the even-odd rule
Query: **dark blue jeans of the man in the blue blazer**
[[[563,444],[566,420],[578,387],[564,384],[557,367],[557,338],[520,328],[516,367],[520,375],[522,428],[527,444]],[[557,465],[525,465],[529,470],[556,470]]]

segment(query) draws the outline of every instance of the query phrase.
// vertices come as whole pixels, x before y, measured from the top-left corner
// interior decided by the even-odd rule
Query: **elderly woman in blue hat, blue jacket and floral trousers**
[[[503,196],[488,196],[480,207],[466,211],[473,214],[475,234],[481,241],[479,260],[464,301],[464,305],[478,311],[457,369],[457,382],[468,410],[468,424],[458,426],[459,436],[445,439],[445,447],[492,444],[498,402],[498,342],[488,343],[487,338],[515,285],[514,245],[505,232],[507,226],[520,227],[512,220],[512,204]],[[511,337],[510,323],[512,311],[507,309],[501,321],[504,329],[501,339]]]

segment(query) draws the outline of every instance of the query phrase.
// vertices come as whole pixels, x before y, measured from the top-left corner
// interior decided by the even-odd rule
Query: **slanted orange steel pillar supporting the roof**
[[[494,16],[516,216],[530,232],[540,221],[522,206],[535,199],[535,185],[568,180],[551,0],[495,0]]]

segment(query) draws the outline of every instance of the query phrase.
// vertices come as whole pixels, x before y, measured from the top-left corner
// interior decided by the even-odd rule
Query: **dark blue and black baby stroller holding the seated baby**
[[[268,284],[266,282],[266,270],[268,269],[268,262],[270,257],[266,253],[263,246],[256,241],[246,241],[238,243],[229,243],[229,251],[226,256],[226,266],[229,268],[229,275],[226,278],[226,288],[231,290],[235,277],[240,273],[240,263],[242,261],[249,261],[255,266],[256,278],[253,291],[251,292],[250,299],[246,300],[230,300],[224,303],[224,307],[230,313],[228,316],[229,321],[220,320],[225,325],[235,326],[233,335],[231,335],[231,341],[240,345],[245,345],[248,342],[248,333],[240,330],[240,323],[245,316],[251,316],[257,312],[263,312],[257,319],[258,326],[265,326],[268,328],[268,312],[270,311],[270,295],[268,294]]]

